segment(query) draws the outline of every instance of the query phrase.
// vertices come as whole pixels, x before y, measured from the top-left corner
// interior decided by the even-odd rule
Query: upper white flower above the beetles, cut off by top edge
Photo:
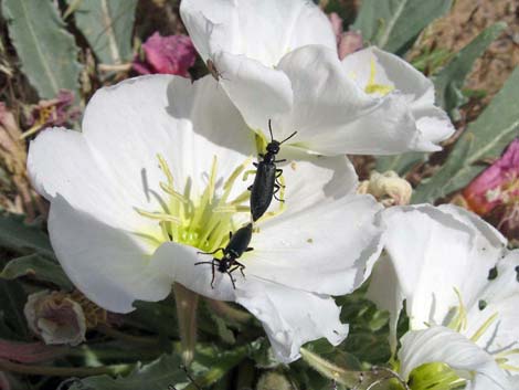
[[[321,155],[432,151],[453,127],[432,83],[403,60],[369,49],[338,59],[333,32],[310,1],[183,0],[181,15],[245,122],[268,139]]]

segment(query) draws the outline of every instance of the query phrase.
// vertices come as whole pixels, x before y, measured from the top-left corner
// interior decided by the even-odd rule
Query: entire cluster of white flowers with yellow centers
[[[347,337],[332,296],[359,287],[385,249],[370,296],[391,312],[393,330],[406,301],[401,372],[444,361],[478,389],[512,389],[505,370],[519,365],[517,253],[454,208],[382,211],[356,193],[345,156],[438,150],[454,128],[431,81],[377,48],[340,61],[328,19],[309,1],[183,0],[180,11],[213,76],[102,88],[82,133],[52,128],[31,144],[52,244],[77,288],[118,313],[165,298],[173,283],[236,302],[289,362],[309,340]],[[285,202],[254,224],[245,275],[233,274],[234,286],[216,272],[212,285],[211,267],[194,265],[206,261],[198,252],[225,246],[250,222],[243,177],[269,120],[276,139],[297,130],[279,154]]]

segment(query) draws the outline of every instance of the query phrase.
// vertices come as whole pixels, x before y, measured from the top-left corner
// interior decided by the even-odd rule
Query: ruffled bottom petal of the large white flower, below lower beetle
[[[236,291],[236,302],[262,323],[274,354],[282,362],[300,357],[299,348],[307,341],[326,337],[339,345],[348,335],[348,325],[339,320],[340,308],[328,296],[287,288],[251,276]]]

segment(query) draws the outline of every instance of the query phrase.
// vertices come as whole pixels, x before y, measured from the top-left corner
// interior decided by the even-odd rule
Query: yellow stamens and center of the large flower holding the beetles
[[[157,221],[160,233],[138,233],[139,236],[152,242],[158,247],[167,241],[174,241],[194,246],[203,252],[211,252],[225,246],[229,242],[229,232],[235,231],[236,213],[250,213],[250,207],[243,203],[250,199],[250,191],[244,190],[230,200],[236,179],[251,164],[252,158],[240,165],[223,185],[223,192],[216,197],[218,158],[214,156],[209,172],[209,183],[198,199],[192,199],[191,182],[184,187],[183,192],[174,189],[173,175],[166,159],[158,155],[159,167],[165,181],[159,183],[165,198],[160,202],[160,211],[146,211],[135,209],[140,215]]]

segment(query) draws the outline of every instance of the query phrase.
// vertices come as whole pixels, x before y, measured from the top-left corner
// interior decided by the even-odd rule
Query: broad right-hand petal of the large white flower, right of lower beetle
[[[348,196],[265,220],[253,235],[246,272],[307,292],[351,293],[380,254],[379,210],[371,197]]]

